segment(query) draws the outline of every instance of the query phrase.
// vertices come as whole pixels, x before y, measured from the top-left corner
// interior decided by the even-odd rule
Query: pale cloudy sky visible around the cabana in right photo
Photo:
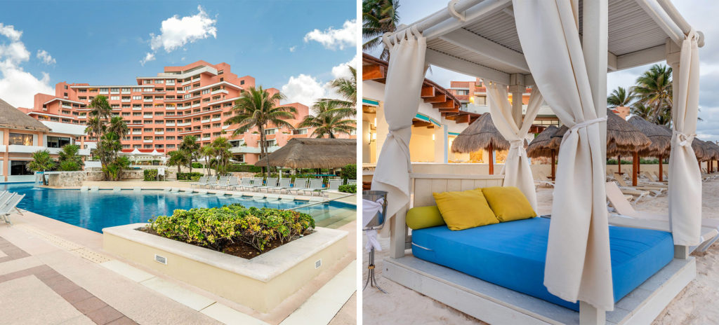
[[[704,121],[697,123],[697,136],[702,140],[719,141],[719,92],[716,91],[719,87],[719,24],[716,23],[719,1],[674,0],[672,4],[692,27],[705,35],[705,46],[699,50],[699,115]],[[446,1],[402,0],[398,9],[400,24],[412,24],[440,9],[446,9]],[[379,51],[370,54],[379,55]],[[651,65],[609,73],[607,92],[611,93],[619,86],[631,87],[636,78],[649,67]],[[426,77],[444,87],[449,87],[450,80],[475,80],[474,77],[434,66]]]

